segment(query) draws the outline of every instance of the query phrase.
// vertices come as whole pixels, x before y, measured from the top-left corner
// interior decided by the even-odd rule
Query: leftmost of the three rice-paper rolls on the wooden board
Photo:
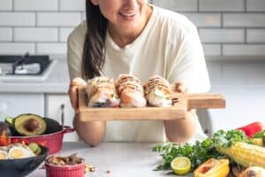
[[[89,107],[117,107],[119,99],[112,78],[95,77],[87,81],[87,96]]]

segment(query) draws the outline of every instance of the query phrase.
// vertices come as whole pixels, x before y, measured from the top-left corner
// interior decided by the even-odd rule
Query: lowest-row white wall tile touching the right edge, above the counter
[[[224,44],[223,45],[224,56],[264,56],[265,45],[257,44]]]

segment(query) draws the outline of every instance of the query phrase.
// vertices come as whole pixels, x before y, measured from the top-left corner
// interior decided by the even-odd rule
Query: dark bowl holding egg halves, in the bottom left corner
[[[41,146],[42,153],[32,158],[2,159],[0,160],[0,176],[26,176],[32,173],[49,154],[49,149]]]

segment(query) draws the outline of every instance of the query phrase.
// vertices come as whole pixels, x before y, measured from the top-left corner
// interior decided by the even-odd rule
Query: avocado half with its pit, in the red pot
[[[47,124],[45,119],[35,114],[20,114],[13,120],[15,130],[19,135],[43,135]]]

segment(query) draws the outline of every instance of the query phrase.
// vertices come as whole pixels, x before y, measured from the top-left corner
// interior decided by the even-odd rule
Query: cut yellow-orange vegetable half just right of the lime
[[[194,177],[225,177],[229,174],[229,160],[209,158],[194,171]]]

